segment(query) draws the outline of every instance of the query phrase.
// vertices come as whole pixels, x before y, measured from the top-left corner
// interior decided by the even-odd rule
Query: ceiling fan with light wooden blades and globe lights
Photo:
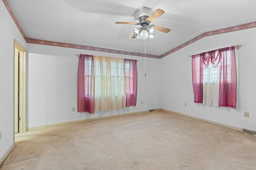
[[[134,29],[134,35],[132,38],[137,39],[152,39],[154,38],[154,30],[161,31],[164,33],[170,32],[170,29],[165,27],[160,27],[158,25],[149,25],[152,21],[156,20],[158,17],[160,17],[162,14],[164,14],[164,10],[157,9],[151,14],[150,16],[141,16],[139,18],[139,23],[137,22],[116,22],[116,24],[134,24],[134,25],[140,25],[142,27]]]

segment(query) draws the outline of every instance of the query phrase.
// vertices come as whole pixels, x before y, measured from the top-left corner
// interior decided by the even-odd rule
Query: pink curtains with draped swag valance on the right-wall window
[[[236,108],[235,47],[226,47],[192,55],[192,82],[194,102],[203,102],[203,68],[220,66],[219,106]]]

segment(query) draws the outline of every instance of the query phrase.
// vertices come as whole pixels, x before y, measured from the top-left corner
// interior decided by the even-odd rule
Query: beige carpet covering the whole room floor
[[[19,134],[0,170],[255,170],[256,137],[164,111]]]

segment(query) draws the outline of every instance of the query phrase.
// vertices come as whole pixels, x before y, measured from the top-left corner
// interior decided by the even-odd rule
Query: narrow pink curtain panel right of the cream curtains
[[[137,102],[137,60],[124,59],[126,81],[126,107]]]

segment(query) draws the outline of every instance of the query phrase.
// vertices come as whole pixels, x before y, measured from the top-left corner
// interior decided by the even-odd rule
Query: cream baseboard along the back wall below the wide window
[[[46,129],[46,128],[50,128],[50,127],[58,127],[58,126],[63,126],[63,125],[70,125],[70,124],[73,124],[73,123],[82,123],[82,122],[86,122],[86,121],[96,121],[96,120],[108,119],[108,118],[112,118],[112,117],[134,115],[134,114],[139,114],[139,113],[148,113],[148,110],[132,112],[132,113],[124,113],[124,114],[118,114],[118,115],[109,115],[109,116],[103,116],[103,117],[95,117],[95,118],[82,119],[82,120],[76,120],[76,121],[67,121],[67,122],[62,122],[62,123],[54,123],[54,124],[35,126],[35,127],[28,127],[28,131]]]

